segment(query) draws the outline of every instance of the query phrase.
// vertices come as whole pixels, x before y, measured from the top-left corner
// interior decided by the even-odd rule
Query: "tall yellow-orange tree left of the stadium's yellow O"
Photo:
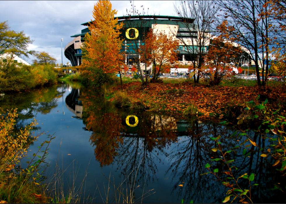
[[[120,72],[124,56],[120,53],[122,39],[120,29],[123,24],[114,18],[110,1],[98,1],[94,5],[93,18],[83,43],[83,63],[87,67],[86,76],[92,86],[112,82],[115,72]]]

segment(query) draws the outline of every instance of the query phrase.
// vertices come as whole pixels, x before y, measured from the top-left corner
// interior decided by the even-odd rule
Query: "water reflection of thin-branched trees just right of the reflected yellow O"
[[[143,186],[146,177],[146,185],[150,179],[156,179],[156,164],[162,162],[160,155],[167,156],[164,149],[177,141],[177,125],[175,118],[149,113],[141,114],[139,121],[137,127],[125,135],[115,161],[123,174],[137,171],[137,182]]]

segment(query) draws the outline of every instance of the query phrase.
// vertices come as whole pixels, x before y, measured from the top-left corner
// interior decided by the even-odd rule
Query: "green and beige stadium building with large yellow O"
[[[136,50],[138,50],[140,43],[142,43],[142,37],[144,33],[153,29],[153,32],[164,32],[173,39],[178,39],[180,42],[184,41],[179,45],[179,61],[182,64],[190,64],[189,61],[196,56],[195,53],[191,53],[190,50],[196,50],[196,45],[190,43],[186,45],[192,38],[198,38],[198,30],[196,25],[193,24],[193,18],[182,18],[176,16],[161,16],[161,15],[138,15],[138,16],[121,16],[118,18],[118,23],[123,23],[121,31],[121,37],[124,39],[122,45],[122,51],[125,51],[125,64],[130,65],[134,63]],[[83,23],[81,25],[88,26],[90,22]],[[64,55],[71,61],[72,66],[78,66],[81,64],[81,46],[84,41],[86,33],[90,33],[88,27],[81,30],[81,33],[75,34],[71,37],[74,39],[70,41],[64,48]],[[203,50],[207,51],[210,44],[210,33],[206,33],[206,43],[203,46]],[[191,48],[194,46],[195,48]],[[248,50],[247,50],[248,51]],[[247,52],[245,52],[247,55]],[[246,56],[245,56],[246,58]],[[149,73],[151,74],[151,70]]]

